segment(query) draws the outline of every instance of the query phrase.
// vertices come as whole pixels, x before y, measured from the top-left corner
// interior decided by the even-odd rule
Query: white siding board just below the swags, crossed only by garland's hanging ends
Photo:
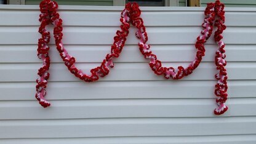
[[[49,82],[47,99],[215,98],[215,84],[216,81]],[[35,82],[0,82],[0,100],[35,100],[35,86]],[[256,81],[228,81],[228,86],[230,98],[256,98]]]

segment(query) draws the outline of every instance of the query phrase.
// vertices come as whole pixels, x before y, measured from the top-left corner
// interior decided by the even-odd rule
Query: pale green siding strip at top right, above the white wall
[[[201,5],[206,6],[208,2],[214,2],[215,0],[201,0]],[[256,7],[255,0],[222,0],[226,7]]]

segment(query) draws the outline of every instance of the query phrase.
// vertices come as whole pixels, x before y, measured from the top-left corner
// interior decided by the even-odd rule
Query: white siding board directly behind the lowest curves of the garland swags
[[[91,68],[95,68],[100,63],[78,63],[77,66],[85,73],[89,73]],[[187,66],[189,63],[163,63],[164,66],[179,65]],[[34,82],[38,78],[37,71],[41,67],[40,63],[21,64],[0,64],[0,82]],[[214,63],[201,63],[190,76],[184,80],[215,80]],[[256,79],[256,63],[234,62],[226,66],[228,78],[230,80]],[[81,81],[68,71],[63,63],[53,63],[50,66],[49,81]],[[111,69],[111,73],[100,81],[156,81],[166,80],[164,76],[157,76],[153,73],[148,63],[116,63]]]

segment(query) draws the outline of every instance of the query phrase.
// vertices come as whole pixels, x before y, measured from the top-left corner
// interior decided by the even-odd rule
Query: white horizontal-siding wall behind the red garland
[[[63,42],[80,68],[89,71],[110,51],[122,9],[60,6]],[[158,58],[166,66],[188,65],[204,8],[141,9]],[[5,18],[0,21],[0,143],[256,143],[255,14],[253,8],[226,8],[230,110],[215,116],[213,38],[198,69],[172,81],[152,73],[139,54],[133,26],[111,73],[90,84],[68,72],[52,40],[47,87],[52,106],[41,108],[34,98],[42,65],[36,57],[38,6],[0,6]]]

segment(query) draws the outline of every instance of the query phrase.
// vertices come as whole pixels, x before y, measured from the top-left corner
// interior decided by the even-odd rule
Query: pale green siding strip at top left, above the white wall
[[[78,6],[113,6],[113,0],[56,0],[60,5],[78,5]],[[26,0],[25,4],[36,4],[38,5],[41,0]]]

